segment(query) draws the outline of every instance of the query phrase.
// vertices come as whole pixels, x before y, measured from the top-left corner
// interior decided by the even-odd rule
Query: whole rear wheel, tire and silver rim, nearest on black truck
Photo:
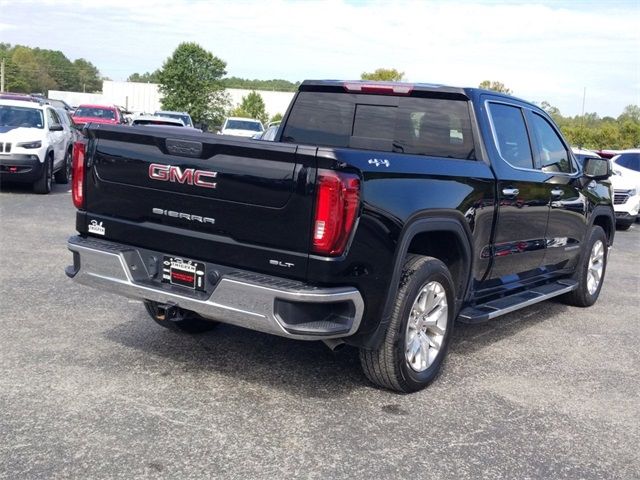
[[[437,376],[449,346],[454,298],[444,263],[409,256],[383,343],[376,350],[360,350],[367,378],[400,392],[426,387]]]

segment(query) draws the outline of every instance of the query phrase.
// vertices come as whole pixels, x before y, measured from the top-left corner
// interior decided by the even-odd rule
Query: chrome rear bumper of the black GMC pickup
[[[149,252],[94,238],[71,237],[74,264],[66,274],[83,285],[138,300],[151,300],[202,317],[299,340],[354,334],[364,303],[353,287],[318,288],[302,282],[220,267],[208,292],[162,284],[148,268]],[[207,271],[216,265],[207,264]]]

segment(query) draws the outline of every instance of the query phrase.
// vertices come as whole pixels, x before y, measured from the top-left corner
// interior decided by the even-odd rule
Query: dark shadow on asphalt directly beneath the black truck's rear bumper
[[[104,335],[110,341],[169,360],[170,364],[164,363],[168,374],[203,375],[203,383],[212,386],[231,380],[305,398],[335,398],[368,383],[355,348],[332,352],[321,342],[289,340],[231,325],[220,324],[211,332],[189,335],[166,330],[141,314]]]

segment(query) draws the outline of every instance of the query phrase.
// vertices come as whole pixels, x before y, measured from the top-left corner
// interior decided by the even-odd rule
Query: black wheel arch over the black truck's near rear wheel
[[[472,236],[463,215],[457,210],[427,212],[414,216],[402,229],[394,254],[389,289],[377,328],[364,340],[364,348],[377,348],[390,322],[407,254],[438,258],[449,269],[455,285],[455,312],[467,297],[472,273]]]

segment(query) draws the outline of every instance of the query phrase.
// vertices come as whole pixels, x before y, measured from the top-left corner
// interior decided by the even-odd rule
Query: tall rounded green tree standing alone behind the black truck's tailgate
[[[226,62],[197,43],[181,43],[158,72],[162,108],[186,111],[197,123],[220,124],[229,100]]]

